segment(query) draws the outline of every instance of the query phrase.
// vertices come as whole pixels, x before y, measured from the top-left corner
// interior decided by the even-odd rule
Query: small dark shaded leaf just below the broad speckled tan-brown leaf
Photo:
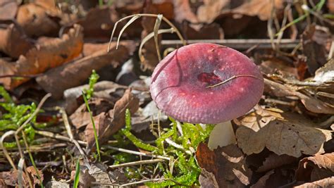
[[[296,161],[295,157],[287,156],[287,155],[280,155],[278,156],[275,153],[271,153],[264,163],[256,170],[256,172],[263,173],[268,170],[272,170],[278,168],[282,165],[287,165],[292,162]]]

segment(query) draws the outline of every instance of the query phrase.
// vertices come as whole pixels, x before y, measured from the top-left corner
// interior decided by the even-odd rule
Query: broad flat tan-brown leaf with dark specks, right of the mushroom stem
[[[280,114],[258,108],[235,120],[237,144],[246,153],[260,153],[264,147],[278,155],[299,157],[302,153],[324,152],[323,143],[331,139],[330,130],[321,130],[301,115]]]

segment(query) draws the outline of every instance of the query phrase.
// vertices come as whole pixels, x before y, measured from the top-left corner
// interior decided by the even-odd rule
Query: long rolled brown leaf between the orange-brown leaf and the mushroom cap
[[[63,91],[71,87],[76,87],[85,82],[92,70],[118,65],[132,54],[134,51],[134,42],[120,42],[118,49],[114,49],[116,43],[112,43],[112,50],[107,53],[106,49],[101,49],[91,56],[80,58],[77,61],[67,63],[58,68],[49,70],[44,75],[37,77],[37,83],[53,97],[60,98]],[[69,82],[70,80],[70,82]]]

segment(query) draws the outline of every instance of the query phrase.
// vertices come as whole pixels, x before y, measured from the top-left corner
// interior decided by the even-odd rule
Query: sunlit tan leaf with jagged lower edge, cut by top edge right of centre
[[[274,4],[273,4],[274,2]],[[231,10],[232,13],[240,13],[242,15],[254,16],[257,15],[260,20],[269,20],[273,6],[276,11],[283,9],[282,0],[252,0],[247,1],[241,6]]]

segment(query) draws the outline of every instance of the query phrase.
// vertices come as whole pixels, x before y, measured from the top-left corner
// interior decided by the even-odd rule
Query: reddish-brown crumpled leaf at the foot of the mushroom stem
[[[197,147],[196,158],[199,166],[206,170],[206,179],[214,181],[211,184],[218,184],[218,187],[245,187],[250,183],[252,171],[236,144],[211,151],[206,144],[201,143]]]

